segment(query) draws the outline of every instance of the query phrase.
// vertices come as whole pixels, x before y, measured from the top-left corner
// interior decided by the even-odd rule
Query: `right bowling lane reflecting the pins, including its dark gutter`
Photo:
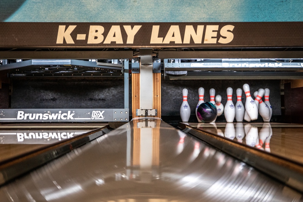
[[[188,134],[303,191],[303,125],[179,123]]]

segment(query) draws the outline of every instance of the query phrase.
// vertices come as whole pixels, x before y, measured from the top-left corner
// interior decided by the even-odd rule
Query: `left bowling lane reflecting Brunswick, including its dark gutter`
[[[0,125],[0,185],[101,135],[108,124]]]

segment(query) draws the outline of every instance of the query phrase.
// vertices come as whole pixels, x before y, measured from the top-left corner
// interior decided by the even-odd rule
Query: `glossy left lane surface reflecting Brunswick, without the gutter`
[[[0,125],[0,164],[11,158],[104,127],[107,123]],[[59,138],[60,133],[62,138]]]

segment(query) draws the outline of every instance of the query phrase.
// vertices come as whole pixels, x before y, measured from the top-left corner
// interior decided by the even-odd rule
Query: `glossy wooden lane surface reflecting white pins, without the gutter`
[[[303,165],[303,125],[283,123],[188,123],[192,127]]]

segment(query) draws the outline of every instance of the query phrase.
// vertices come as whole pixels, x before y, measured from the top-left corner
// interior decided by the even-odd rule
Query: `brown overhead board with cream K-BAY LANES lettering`
[[[303,22],[0,22],[0,27],[0,48],[303,46]]]

